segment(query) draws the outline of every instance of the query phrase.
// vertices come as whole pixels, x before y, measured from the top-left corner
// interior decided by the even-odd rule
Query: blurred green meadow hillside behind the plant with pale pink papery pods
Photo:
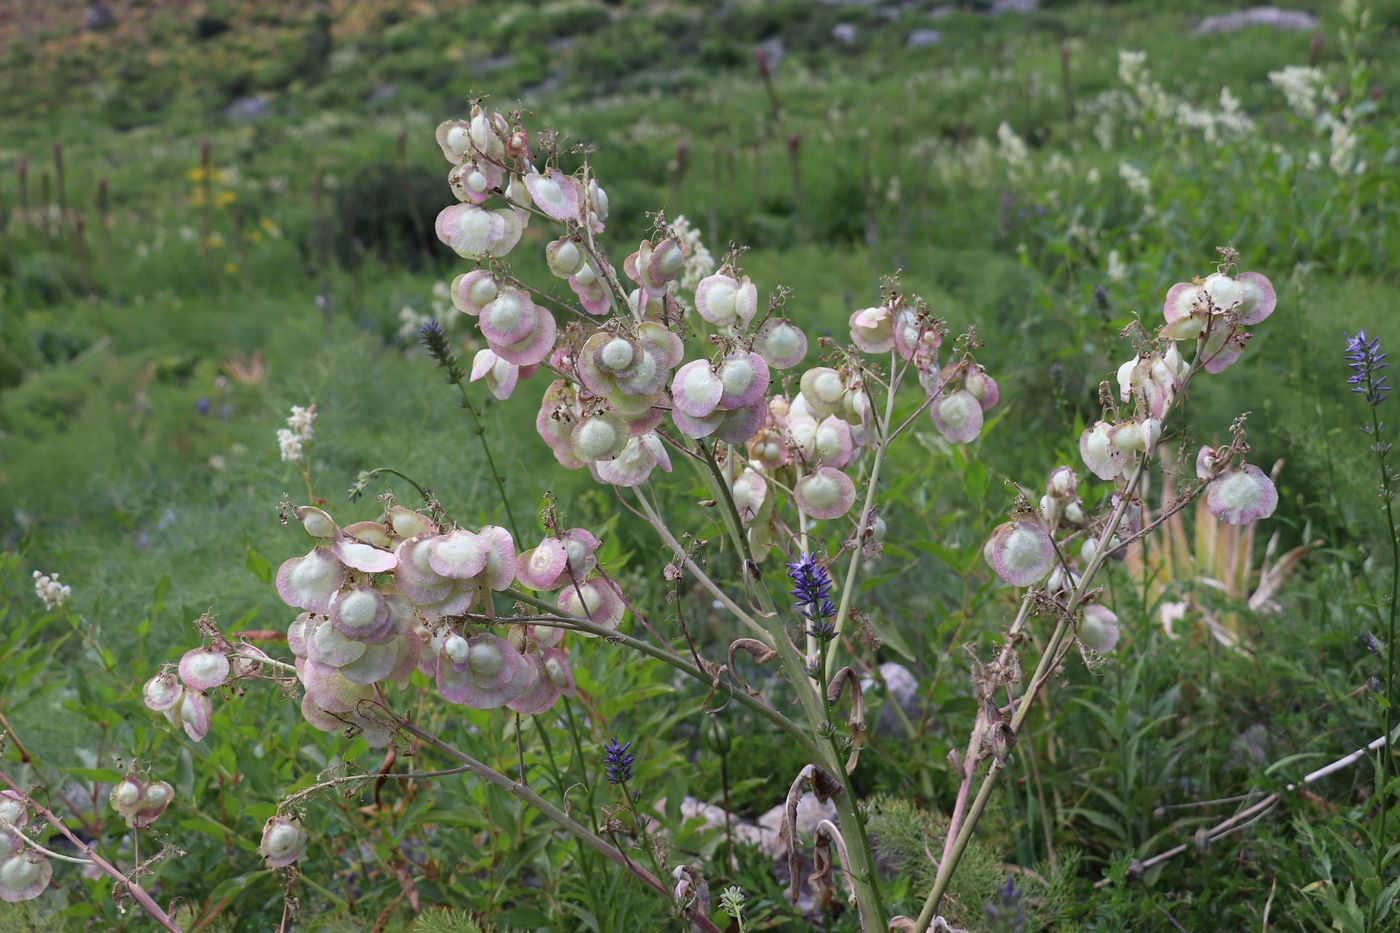
[[[1233,591],[1198,581],[1221,576],[1204,556],[1176,579],[1113,579],[1133,619],[1124,647],[1093,674],[1071,663],[959,911],[983,929],[983,901],[1011,863],[1039,866],[1036,923],[1063,929],[1256,929],[1266,899],[1280,929],[1329,929],[1324,895],[1344,898],[1355,880],[1344,853],[1373,793],[1366,766],[1148,884],[1092,888],[1224,815],[1170,807],[1273,789],[1379,728],[1365,691],[1379,664],[1362,636],[1386,583],[1373,548],[1387,538],[1341,349],[1359,328],[1400,340],[1400,77],[1385,67],[1400,52],[1400,1],[1288,6],[1288,28],[1215,28],[1210,17],[1245,4],[7,4],[0,709],[48,765],[43,780],[73,769],[87,787],[133,754],[179,770],[183,817],[168,829],[189,855],[160,869],[160,890],[210,925],[276,923],[281,887],[248,841],[335,756],[372,768],[378,754],[301,726],[273,691],[216,702],[213,733],[192,745],[140,707],[139,686],[190,643],[204,609],[230,630],[284,626],[267,569],[302,546],[276,521],[301,486],[273,438],[290,405],[318,405],[316,493],[337,517],[375,513],[372,496],[342,502],[375,466],[431,485],[459,517],[498,517],[470,422],[414,345],[428,317],[472,343],[442,291],[461,262],[433,235],[451,202],[433,129],[489,95],[592,150],[615,256],[647,233],[647,212],[685,214],[717,256],[748,245],[745,272],[764,293],[788,286],[788,314],[812,333],[843,332],[879,277],[902,270],[955,331],[976,325],[987,343],[1004,416],[970,454],[928,430],[895,458],[890,546],[862,593],[883,642],[872,657],[918,685],[907,723],[918,741],[876,741],[857,773],[862,792],[893,801],[886,856],[907,877],[927,870],[909,827],[937,836],[955,790],[944,755],[973,702],[963,646],[984,649],[1007,619],[979,556],[1012,497],[1002,481],[1036,488],[1054,464],[1078,462],[1098,385],[1130,354],[1120,332],[1137,317],[1151,325],[1166,287],[1208,270],[1217,247],[1268,275],[1280,310],[1190,410],[1197,441],[1250,410],[1254,462],[1284,461],[1254,570]],[[1126,50],[1145,60],[1124,64]],[[1270,78],[1289,66],[1317,70],[1310,112]],[[522,277],[543,269],[543,242],[528,231]],[[553,490],[570,524],[606,528],[610,566],[659,615],[651,541],[519,430],[536,405],[531,384],[486,409],[517,511]],[[685,478],[666,482],[676,502],[699,497]],[[1278,611],[1254,611],[1243,597],[1275,534],[1271,555],[1324,544]],[[34,569],[62,572],[71,612],[41,614]],[[1176,637],[1158,625],[1169,598],[1191,607]],[[1207,618],[1228,619],[1236,644],[1211,637]],[[588,647],[580,684],[592,703],[563,786],[595,780],[596,747],[616,731],[648,737],[641,775],[655,799],[715,801],[732,782],[745,817],[778,803],[770,782],[797,763],[759,724],[725,712],[721,776],[699,741],[701,693]],[[665,703],[638,702],[654,695]],[[489,761],[514,759],[504,719],[430,714]],[[528,741],[532,759],[545,754],[539,735]],[[508,799],[438,785],[400,804],[322,804],[307,874],[325,891],[300,892],[307,929],[403,926],[419,904],[528,929],[664,922],[626,878],[539,848],[533,817]],[[405,855],[412,834],[420,849]],[[694,829],[693,845],[718,841]],[[412,899],[395,870],[405,860],[420,877]],[[133,923],[102,883],[84,895],[57,874],[62,891],[0,909],[0,922]],[[806,923],[762,856],[710,883],[729,880],[774,929]],[[242,919],[227,909],[234,897]],[[893,892],[918,897],[917,884]]]

